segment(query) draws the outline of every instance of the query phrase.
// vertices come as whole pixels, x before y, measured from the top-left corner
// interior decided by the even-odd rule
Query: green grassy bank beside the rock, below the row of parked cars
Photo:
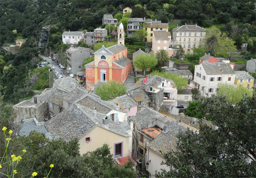
[[[45,88],[50,87],[50,82],[49,82],[49,69],[50,66],[45,66],[40,69],[35,69],[33,70],[32,74],[30,75],[30,78],[35,74],[35,73],[40,73],[40,76],[37,79],[37,82],[35,85],[32,87],[32,90],[44,90]]]

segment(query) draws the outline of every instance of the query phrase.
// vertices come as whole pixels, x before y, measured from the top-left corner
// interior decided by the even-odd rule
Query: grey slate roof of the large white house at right
[[[217,62],[217,63],[203,62],[200,65],[203,66],[207,75],[234,74],[234,71],[231,68],[231,66],[224,62]]]

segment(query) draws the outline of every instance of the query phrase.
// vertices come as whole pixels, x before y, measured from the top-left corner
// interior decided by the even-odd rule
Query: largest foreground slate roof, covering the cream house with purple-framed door
[[[97,116],[94,117],[92,110],[75,104],[65,109],[65,111],[58,114],[53,119],[45,122],[45,127],[51,132],[53,137],[60,136],[62,139],[70,141],[71,139],[83,136],[83,134],[95,126],[96,123],[103,126],[102,119],[106,116],[100,113],[96,114]],[[109,119],[109,130],[123,136],[129,136],[126,131],[111,119]]]

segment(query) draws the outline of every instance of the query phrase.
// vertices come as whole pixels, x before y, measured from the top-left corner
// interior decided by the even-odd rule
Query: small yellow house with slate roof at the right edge
[[[253,90],[254,78],[245,71],[234,71],[236,73],[234,84],[242,85],[249,90]]]

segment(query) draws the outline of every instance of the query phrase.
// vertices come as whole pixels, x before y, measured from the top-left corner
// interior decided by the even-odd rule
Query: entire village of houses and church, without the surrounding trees
[[[124,8],[123,15],[127,12],[132,9]],[[156,19],[129,18],[127,27],[119,22],[113,15],[104,14],[103,27],[91,32],[64,31],[62,42],[68,45],[64,52],[66,64],[57,61],[58,54],[40,56],[46,63],[40,62],[38,68],[48,67],[50,87],[13,105],[17,112],[15,122],[23,123],[21,136],[35,130],[50,140],[78,139],[81,155],[108,144],[115,165],[124,166],[131,159],[138,177],[155,178],[156,171],[170,170],[161,163],[166,161],[166,154],[176,150],[180,132],[199,133],[200,124],[218,129],[206,116],[184,114],[189,102],[195,101],[193,91],[208,98],[218,94],[222,82],[253,91],[256,82],[249,72],[256,73],[256,59],[247,61],[246,71],[236,70],[239,64],[231,62],[230,57],[214,57],[207,51],[191,72],[184,54],[194,54],[194,49],[205,44],[208,30],[203,26],[177,24],[171,33],[168,23]],[[110,35],[106,25],[116,28],[115,36]],[[141,41],[146,49],[130,52],[127,37],[132,38],[141,30],[147,32]],[[24,42],[25,39],[17,39],[9,51],[16,54]],[[115,44],[105,47],[110,42]],[[82,47],[83,43],[87,47]],[[102,46],[93,50],[98,43]],[[161,50],[168,57],[161,70],[186,78],[183,88],[169,77],[152,75],[151,68],[136,65],[139,57],[157,57]],[[84,64],[89,58],[93,60]],[[105,101],[96,94],[96,88],[110,81],[123,83],[126,92]]]

